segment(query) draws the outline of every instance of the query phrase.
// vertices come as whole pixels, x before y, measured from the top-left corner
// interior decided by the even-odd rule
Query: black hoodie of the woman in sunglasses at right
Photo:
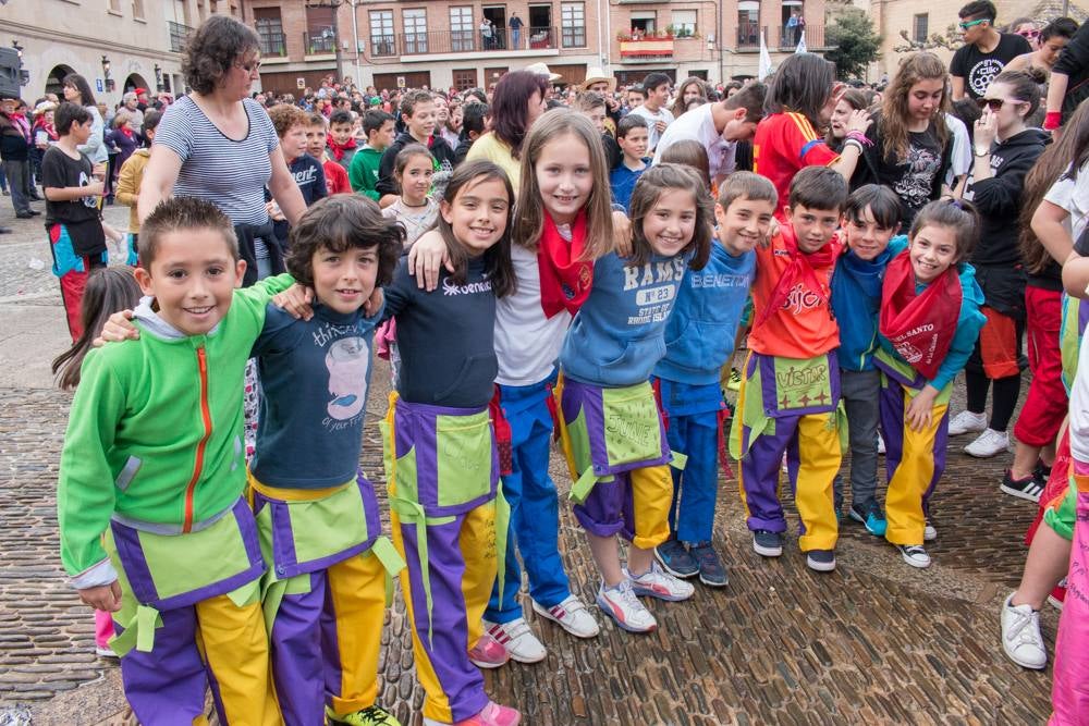
[[[979,209],[982,218],[979,243],[971,255],[977,268],[1014,268],[1021,263],[1018,237],[1021,192],[1025,175],[1043,153],[1048,135],[1039,128],[1025,131],[991,147],[991,179],[968,176],[964,198]]]

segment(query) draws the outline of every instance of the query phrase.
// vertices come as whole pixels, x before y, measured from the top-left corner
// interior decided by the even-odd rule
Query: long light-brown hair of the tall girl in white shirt
[[[594,185],[583,209],[586,211],[586,248],[583,259],[597,259],[612,249],[612,198],[609,194],[609,164],[601,134],[594,123],[571,109],[552,109],[529,130],[522,146],[522,186],[514,222],[514,244],[536,250],[544,229],[544,205],[535,169],[544,146],[563,136],[574,136],[589,152]]]

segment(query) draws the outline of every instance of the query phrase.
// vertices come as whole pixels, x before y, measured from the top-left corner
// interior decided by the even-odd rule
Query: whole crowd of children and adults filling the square
[[[600,614],[649,632],[640,599],[727,586],[731,458],[756,554],[784,553],[785,476],[812,570],[852,522],[927,568],[951,438],[1004,454],[1028,368],[994,483],[1038,516],[1001,643],[1043,668],[1039,611],[1063,606],[1054,723],[1085,721],[1089,24],[959,17],[949,65],[915,52],[877,85],[796,53],[766,83],[564,88],[537,64],[272,98],[224,16],[168,108],[126,96],[103,123],[65,78],[34,107],[73,339],[61,554],[136,717],[194,718],[211,688],[223,723],[395,724],[400,574],[424,723],[517,724],[480,668],[546,657],[525,607],[577,638]],[[17,103],[0,151],[23,216],[15,147],[39,147]],[[114,148],[126,267],[100,219]],[[392,541],[357,471],[376,355]],[[553,432],[597,616],[560,557]]]

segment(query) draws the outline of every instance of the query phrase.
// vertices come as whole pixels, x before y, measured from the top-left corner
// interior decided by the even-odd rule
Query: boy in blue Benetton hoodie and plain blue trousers
[[[723,183],[714,205],[718,244],[711,245],[707,267],[685,271],[665,329],[666,354],[654,368],[670,448],[687,456],[684,470],[672,471],[673,537],[654,549],[654,556],[674,577],[698,574],[710,587],[726,585],[725,567],[711,546],[726,415],[719,371],[733,354],[752,284],[752,249],[767,238],[778,204],[774,185],[757,174],[736,172]]]

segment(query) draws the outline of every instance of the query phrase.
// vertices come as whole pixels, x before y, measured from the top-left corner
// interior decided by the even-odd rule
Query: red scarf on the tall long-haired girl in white
[[[544,212],[544,229],[537,247],[537,267],[541,278],[541,308],[551,318],[564,308],[571,315],[590,295],[594,262],[579,259],[586,249],[586,212],[578,212],[571,225],[571,243],[560,236],[555,222]]]

